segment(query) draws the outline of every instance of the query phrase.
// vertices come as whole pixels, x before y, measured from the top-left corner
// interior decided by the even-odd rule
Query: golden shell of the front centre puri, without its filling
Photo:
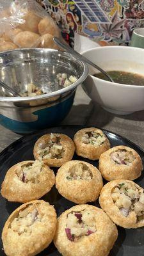
[[[65,228],[67,214],[72,211],[88,209],[95,216],[96,232],[90,236],[83,236],[78,241],[67,238]],[[107,256],[118,236],[116,225],[109,219],[102,209],[93,205],[76,205],[63,212],[58,218],[54,244],[63,256]]]

